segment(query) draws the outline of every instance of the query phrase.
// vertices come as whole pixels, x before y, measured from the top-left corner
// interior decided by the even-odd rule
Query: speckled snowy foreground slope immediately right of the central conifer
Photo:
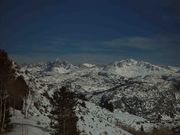
[[[80,106],[77,113],[78,127],[82,133],[87,135],[130,135],[117,125],[113,113],[93,103],[86,102],[85,107]]]

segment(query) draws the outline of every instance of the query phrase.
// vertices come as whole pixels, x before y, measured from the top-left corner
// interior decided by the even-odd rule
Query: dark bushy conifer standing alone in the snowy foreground
[[[66,87],[57,90],[53,95],[51,111],[52,135],[79,135],[75,108],[77,100],[73,92]]]

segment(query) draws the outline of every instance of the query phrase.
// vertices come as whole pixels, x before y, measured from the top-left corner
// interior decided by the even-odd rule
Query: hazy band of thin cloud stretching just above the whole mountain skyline
[[[54,60],[59,57],[72,63],[107,64],[120,59],[134,58],[178,65],[179,37],[180,35],[156,35],[117,38],[109,41],[59,38],[59,40],[48,40],[45,45],[40,43],[9,48],[8,53],[10,52],[11,56],[20,63]]]

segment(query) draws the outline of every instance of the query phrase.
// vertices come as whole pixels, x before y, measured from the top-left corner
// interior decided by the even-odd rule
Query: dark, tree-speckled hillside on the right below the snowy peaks
[[[89,100],[99,105],[111,102],[121,111],[156,120],[159,113],[169,117],[178,113],[179,99],[175,97],[174,90],[170,82],[160,79],[155,84],[145,80],[127,80],[109,90],[94,92]]]

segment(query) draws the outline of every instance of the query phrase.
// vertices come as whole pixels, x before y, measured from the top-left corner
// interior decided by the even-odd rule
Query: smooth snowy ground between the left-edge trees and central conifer
[[[24,118],[24,115],[20,111],[15,111],[11,118],[13,124],[12,131],[5,133],[4,135],[50,135],[49,134],[49,119],[47,117],[31,116],[28,119]]]

